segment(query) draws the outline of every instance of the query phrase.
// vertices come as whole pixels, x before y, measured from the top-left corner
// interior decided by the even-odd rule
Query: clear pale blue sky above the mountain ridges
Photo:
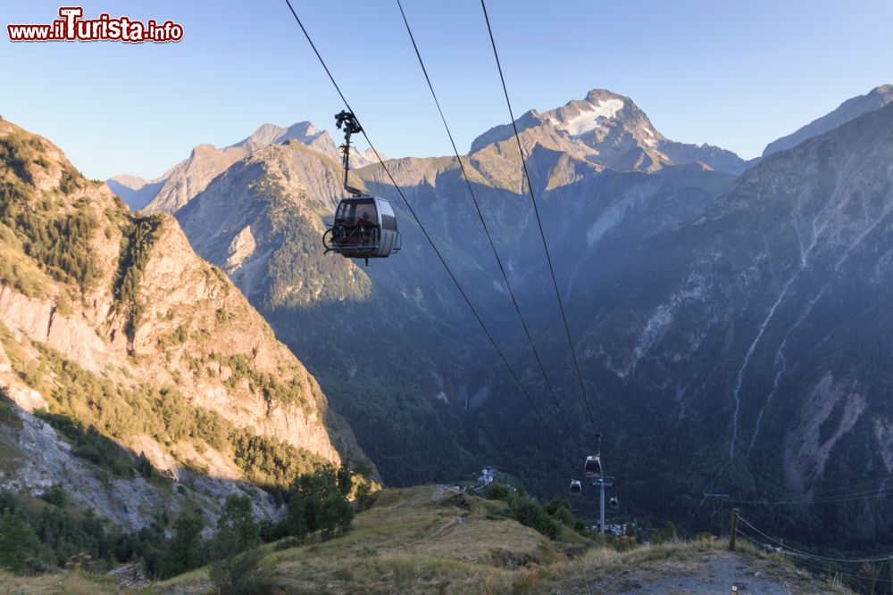
[[[6,24],[52,21],[59,4],[10,4],[0,114],[60,145],[89,178],[154,178],[194,145],[230,145],[264,122],[332,129],[342,109],[282,0],[84,1],[86,17],[181,23],[183,40],[164,45],[12,44]],[[396,0],[293,4],[382,153],[451,153]],[[480,2],[404,6],[467,150],[508,121]],[[516,114],[602,87],[674,140],[745,158],[893,83],[889,0],[489,0],[488,12]]]

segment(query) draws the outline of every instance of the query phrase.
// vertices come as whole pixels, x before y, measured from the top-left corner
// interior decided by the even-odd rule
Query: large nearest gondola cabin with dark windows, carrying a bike
[[[400,232],[390,202],[378,196],[343,198],[335,222],[322,236],[326,252],[345,258],[386,258],[401,247]]]

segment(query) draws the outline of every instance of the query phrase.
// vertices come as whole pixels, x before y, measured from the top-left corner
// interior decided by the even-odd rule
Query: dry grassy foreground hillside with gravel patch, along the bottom
[[[309,593],[849,593],[797,570],[785,558],[720,541],[688,541],[616,551],[573,533],[549,541],[504,516],[505,505],[424,486],[379,492],[344,537],[263,546],[271,592]],[[121,592],[87,575],[14,578],[0,574],[0,594]],[[151,591],[214,592],[205,569]]]

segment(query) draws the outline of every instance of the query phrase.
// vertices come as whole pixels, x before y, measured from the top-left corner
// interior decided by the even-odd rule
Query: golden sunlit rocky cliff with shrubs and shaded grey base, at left
[[[313,376],[175,219],[134,218],[54,145],[5,121],[0,190],[0,390],[14,403],[0,428],[12,453],[4,486],[63,483],[135,528],[184,500],[128,475],[137,455],[208,510],[239,490],[267,515],[249,482],[364,459]],[[100,435],[124,447],[111,483],[96,479],[108,460],[78,456],[84,441],[106,444]]]

